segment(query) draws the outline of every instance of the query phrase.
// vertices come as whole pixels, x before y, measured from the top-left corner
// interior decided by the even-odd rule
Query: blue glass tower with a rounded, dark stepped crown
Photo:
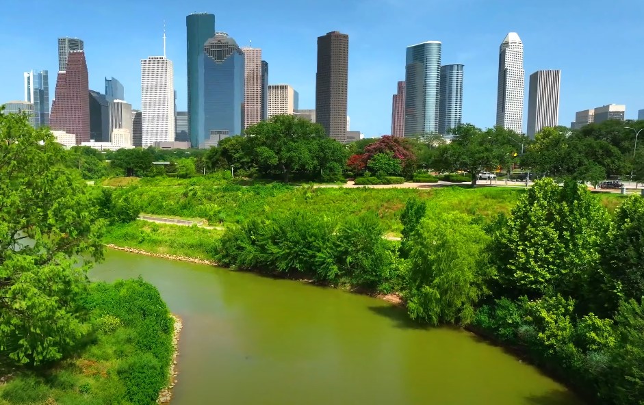
[[[198,116],[198,137],[192,139],[203,148],[242,133],[244,53],[233,38],[218,32],[207,40],[198,62],[203,86],[197,103],[203,105],[203,114]]]

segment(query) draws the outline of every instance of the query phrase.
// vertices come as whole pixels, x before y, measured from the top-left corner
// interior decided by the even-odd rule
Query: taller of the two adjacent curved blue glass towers
[[[404,136],[438,131],[441,42],[407,47],[404,68]]]

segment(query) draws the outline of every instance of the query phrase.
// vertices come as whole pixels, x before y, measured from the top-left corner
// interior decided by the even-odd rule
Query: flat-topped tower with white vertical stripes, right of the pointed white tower
[[[527,135],[541,132],[543,127],[556,127],[559,122],[559,88],[561,70],[537,70],[530,75],[528,86]]]

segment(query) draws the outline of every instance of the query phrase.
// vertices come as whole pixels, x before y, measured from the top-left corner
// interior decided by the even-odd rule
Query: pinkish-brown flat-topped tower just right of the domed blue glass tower
[[[242,47],[244,53],[244,129],[261,121],[261,49]]]

